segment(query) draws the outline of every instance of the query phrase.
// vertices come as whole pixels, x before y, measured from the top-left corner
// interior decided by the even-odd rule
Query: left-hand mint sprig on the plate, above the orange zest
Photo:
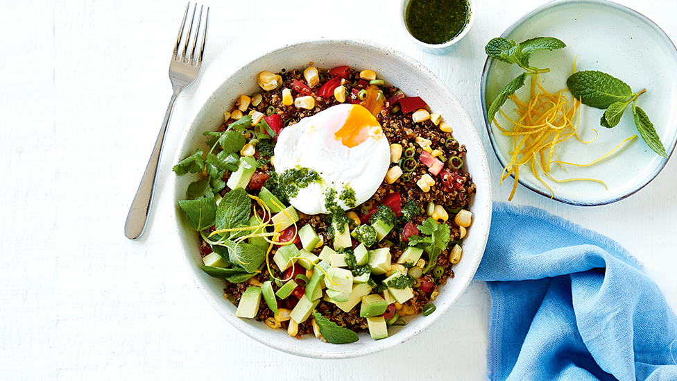
[[[506,87],[499,92],[496,99],[491,102],[487,110],[487,117],[489,122],[494,120],[494,116],[508,100],[508,97],[515,94],[520,87],[524,86],[526,76],[533,76],[535,74],[547,73],[549,68],[538,69],[529,65],[531,53],[538,50],[554,50],[562,49],[567,46],[564,42],[555,37],[535,37],[516,44],[515,40],[508,41],[504,37],[492,38],[484,47],[484,51],[488,56],[501,60],[508,64],[517,64],[522,67],[525,73],[520,74],[513,79]]]

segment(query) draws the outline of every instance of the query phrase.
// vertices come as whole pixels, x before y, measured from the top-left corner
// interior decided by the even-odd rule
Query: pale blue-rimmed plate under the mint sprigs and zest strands
[[[649,115],[669,158],[677,142],[674,109],[677,104],[677,49],[661,28],[640,13],[610,1],[558,0],[533,10],[502,35],[518,43],[542,36],[556,37],[567,44],[564,49],[537,51],[531,56],[531,66],[551,69],[540,76],[546,90],[558,92],[567,87],[566,80],[574,72],[574,60],[576,70],[606,72],[630,85],[633,92],[646,88],[637,105]],[[522,72],[524,70],[517,65],[488,58],[482,74],[485,124],[496,156],[504,167],[510,161],[512,138],[502,135],[495,124],[488,123],[486,110],[502,88]],[[520,99],[528,99],[530,81],[528,79],[527,85],[516,93]],[[502,110],[510,115],[514,113],[513,108],[514,103],[508,100]],[[551,192],[527,168],[520,170],[520,183],[563,203],[604,205],[634,194],[653,180],[665,167],[667,158],[655,154],[644,143],[631,110],[626,110],[620,124],[614,128],[599,126],[602,113],[603,110],[597,108],[581,108],[579,135],[583,141],[594,139],[594,142],[585,144],[569,139],[558,144],[558,160],[587,164],[612,151],[627,137],[637,135],[637,139],[590,167],[553,165],[551,175],[558,180],[595,178],[603,181],[606,187],[587,180],[557,183],[541,173]],[[509,126],[500,113],[496,116],[499,124]],[[508,178],[503,185],[511,187],[512,183],[513,178]]]

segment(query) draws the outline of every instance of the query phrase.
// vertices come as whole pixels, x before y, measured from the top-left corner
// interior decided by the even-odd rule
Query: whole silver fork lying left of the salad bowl
[[[209,24],[209,7],[207,7],[205,28],[202,31],[202,45],[200,46],[200,50],[197,52],[196,56],[195,49],[198,42],[198,35],[200,33],[203,7],[204,6],[200,6],[200,15],[198,17],[198,24],[195,28],[194,35],[192,33],[193,22],[195,21],[198,5],[195,4],[193,16],[191,17],[190,25],[188,26],[188,33],[185,36],[183,35],[183,29],[185,27],[186,20],[188,19],[190,3],[188,3],[186,6],[186,12],[183,15],[183,21],[181,22],[179,35],[176,37],[174,53],[171,56],[171,62],[169,63],[169,79],[171,80],[173,94],[171,96],[171,100],[169,101],[167,112],[164,115],[164,121],[162,121],[160,133],[157,135],[157,139],[155,140],[155,146],[153,147],[151,158],[148,160],[144,177],[141,179],[139,189],[137,189],[137,194],[134,196],[134,201],[132,201],[129,213],[127,214],[127,221],[125,222],[125,235],[129,239],[137,239],[141,237],[146,230],[148,215],[151,213],[151,205],[153,204],[155,179],[157,178],[157,169],[160,164],[160,156],[162,155],[162,144],[164,143],[164,136],[167,126],[169,125],[169,118],[171,117],[171,110],[174,107],[174,101],[176,101],[176,98],[179,96],[180,92],[191,85],[191,83],[195,81],[195,78],[198,78],[198,74],[200,73],[200,66],[202,66],[202,58],[205,51],[205,42],[207,41],[207,26]],[[183,40],[182,37],[185,37],[185,44],[181,50],[180,47]],[[191,40],[193,41],[193,46],[189,51],[188,49]]]

